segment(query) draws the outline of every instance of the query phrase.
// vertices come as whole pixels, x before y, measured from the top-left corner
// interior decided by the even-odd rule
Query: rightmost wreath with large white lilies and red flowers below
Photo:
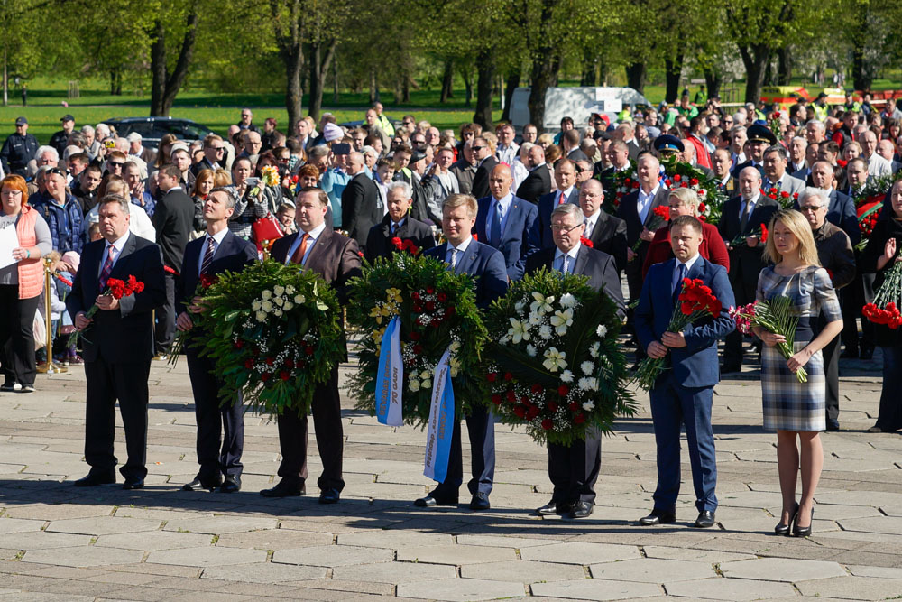
[[[566,445],[593,426],[611,432],[616,416],[636,412],[617,308],[586,282],[543,268],[511,282],[486,316],[483,399],[538,442]]]

